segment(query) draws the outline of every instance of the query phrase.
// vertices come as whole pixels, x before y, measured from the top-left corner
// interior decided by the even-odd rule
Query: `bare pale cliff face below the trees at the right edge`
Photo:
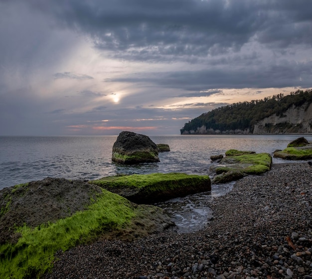
[[[264,118],[255,124],[253,134],[312,133],[312,103],[307,106],[292,106],[282,116]]]

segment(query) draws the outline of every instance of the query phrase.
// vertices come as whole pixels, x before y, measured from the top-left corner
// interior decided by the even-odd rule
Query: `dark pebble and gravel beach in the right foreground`
[[[58,253],[45,279],[312,279],[312,166],[274,164],[213,199],[201,231]]]

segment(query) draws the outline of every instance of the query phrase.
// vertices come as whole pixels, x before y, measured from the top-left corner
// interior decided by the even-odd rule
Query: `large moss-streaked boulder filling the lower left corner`
[[[173,225],[162,209],[97,185],[46,178],[0,191],[0,278],[41,278],[57,251],[137,237]]]

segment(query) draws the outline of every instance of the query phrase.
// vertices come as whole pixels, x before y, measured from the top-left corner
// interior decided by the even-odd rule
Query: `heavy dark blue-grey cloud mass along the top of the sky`
[[[312,45],[311,0],[56,0],[32,4],[57,24],[85,32],[114,55],[159,59],[239,50],[251,38],[271,47]],[[126,52],[125,52],[126,51]]]

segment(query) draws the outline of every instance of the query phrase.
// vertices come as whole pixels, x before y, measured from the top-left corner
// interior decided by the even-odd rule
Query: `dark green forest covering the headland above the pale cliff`
[[[308,104],[305,108],[307,109],[311,103],[312,89],[297,90],[286,96],[281,93],[266,97],[263,100],[238,102],[203,113],[185,123],[180,132],[181,135],[193,134],[189,132],[196,131],[197,128],[204,126],[206,130],[219,130],[221,133],[237,129],[243,131],[247,129],[252,133],[256,122],[271,115],[282,117],[293,105],[300,107]]]

